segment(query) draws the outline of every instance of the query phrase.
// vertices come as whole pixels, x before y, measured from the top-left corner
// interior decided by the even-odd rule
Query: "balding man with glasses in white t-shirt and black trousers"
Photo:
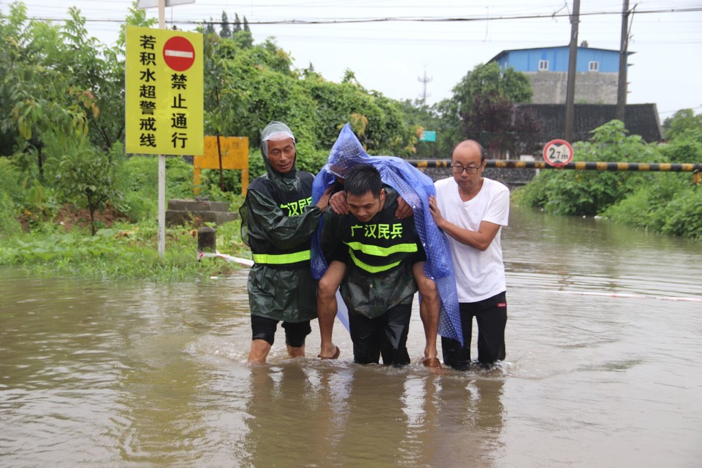
[[[463,326],[463,346],[442,337],[444,363],[456,369],[470,367],[472,319],[478,325],[478,363],[490,367],[505,359],[507,300],[500,228],[510,215],[510,191],[482,177],[485,151],[473,140],[453,149],[452,178],[435,183],[436,197],[429,208],[439,229],[449,237]]]

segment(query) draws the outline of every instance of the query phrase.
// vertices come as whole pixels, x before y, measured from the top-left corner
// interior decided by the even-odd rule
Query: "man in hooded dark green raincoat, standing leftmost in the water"
[[[317,317],[310,239],[331,192],[312,204],[314,176],[297,170],[295,137],[284,123],[273,121],[263,129],[261,154],[266,174],[251,182],[239,210],[241,239],[254,262],[248,284],[249,362],[265,362],[280,321],[289,356],[305,356],[310,320]]]

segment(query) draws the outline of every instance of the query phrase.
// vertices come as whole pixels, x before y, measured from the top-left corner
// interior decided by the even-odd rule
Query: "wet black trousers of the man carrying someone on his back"
[[[407,333],[411,314],[411,304],[392,307],[375,319],[360,314],[349,314],[354,362],[377,364],[380,356],[383,356],[383,364],[386,366],[409,364]]]

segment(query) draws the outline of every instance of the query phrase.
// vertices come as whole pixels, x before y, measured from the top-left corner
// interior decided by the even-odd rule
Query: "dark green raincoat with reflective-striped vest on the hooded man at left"
[[[282,125],[282,124],[281,124]],[[310,269],[310,239],[322,217],[312,205],[311,173],[275,171],[262,145],[266,174],[249,185],[239,209],[241,239],[251,248],[251,315],[300,322],[317,317],[317,281]]]

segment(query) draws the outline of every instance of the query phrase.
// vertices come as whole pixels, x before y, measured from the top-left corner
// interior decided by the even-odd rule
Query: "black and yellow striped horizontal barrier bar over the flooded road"
[[[447,168],[450,159],[425,159],[409,161],[418,168]],[[508,161],[487,159],[485,167],[503,169],[575,169],[576,171],[650,171],[650,172],[691,172],[692,183],[702,181],[702,163],[604,163],[574,162],[565,166],[550,166],[545,161]]]

